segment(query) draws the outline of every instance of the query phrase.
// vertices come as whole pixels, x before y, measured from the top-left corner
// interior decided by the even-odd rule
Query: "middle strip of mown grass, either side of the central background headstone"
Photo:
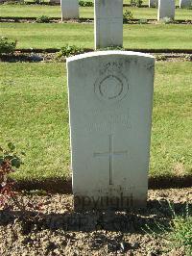
[[[17,48],[60,48],[66,43],[94,47],[93,24],[1,23],[4,37],[17,39]],[[192,49],[190,25],[124,25],[124,47]]]

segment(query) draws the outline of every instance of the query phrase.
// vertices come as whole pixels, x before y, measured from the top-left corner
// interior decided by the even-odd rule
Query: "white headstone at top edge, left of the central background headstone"
[[[79,0],[60,0],[61,20],[79,18]]]

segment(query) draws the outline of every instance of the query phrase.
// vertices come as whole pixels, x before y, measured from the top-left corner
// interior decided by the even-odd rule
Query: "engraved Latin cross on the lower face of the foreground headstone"
[[[108,157],[109,161],[109,185],[113,185],[113,157],[127,155],[128,151],[114,151],[113,136],[109,135],[108,152],[94,153],[94,157]]]

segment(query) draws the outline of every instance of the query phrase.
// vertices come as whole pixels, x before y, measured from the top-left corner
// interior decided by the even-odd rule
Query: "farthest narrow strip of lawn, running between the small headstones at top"
[[[126,7],[124,10],[131,10],[133,18],[157,18],[157,9],[155,8],[131,8]],[[1,5],[0,16],[21,16],[37,17],[47,15],[50,17],[60,17],[60,6],[39,6],[39,5]],[[93,8],[81,7],[81,17],[93,17]],[[176,9],[177,19],[192,19],[192,10]]]

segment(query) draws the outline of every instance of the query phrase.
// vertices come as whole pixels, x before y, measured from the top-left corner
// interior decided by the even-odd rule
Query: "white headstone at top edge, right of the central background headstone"
[[[157,20],[164,17],[175,18],[175,0],[158,0]]]

